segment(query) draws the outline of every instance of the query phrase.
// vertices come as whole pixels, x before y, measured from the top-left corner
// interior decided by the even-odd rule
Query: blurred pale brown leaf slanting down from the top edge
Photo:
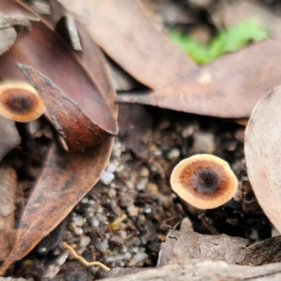
[[[138,1],[56,0],[51,8],[53,22],[72,13],[107,55],[152,89],[162,88],[197,69],[194,62],[157,32]]]

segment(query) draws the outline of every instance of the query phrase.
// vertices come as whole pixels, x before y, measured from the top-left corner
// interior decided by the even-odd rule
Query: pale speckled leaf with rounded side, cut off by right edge
[[[263,97],[245,131],[245,157],[251,187],[259,205],[281,232],[281,88]]]

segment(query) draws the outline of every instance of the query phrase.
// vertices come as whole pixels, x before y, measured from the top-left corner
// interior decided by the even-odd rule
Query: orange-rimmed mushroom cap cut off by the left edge
[[[17,122],[30,122],[39,118],[46,107],[37,90],[20,82],[0,84],[0,115]]]

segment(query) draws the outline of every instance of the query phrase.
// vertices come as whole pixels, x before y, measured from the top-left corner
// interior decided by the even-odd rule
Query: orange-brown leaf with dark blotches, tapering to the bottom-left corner
[[[108,139],[74,153],[67,153],[57,142],[52,144],[44,172],[22,214],[15,245],[0,274],[30,252],[96,184],[110,157],[112,142],[113,139]]]

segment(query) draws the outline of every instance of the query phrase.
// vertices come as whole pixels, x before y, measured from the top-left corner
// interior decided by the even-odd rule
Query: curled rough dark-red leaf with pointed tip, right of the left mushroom
[[[39,92],[55,129],[65,140],[69,151],[89,149],[111,136],[93,123],[79,105],[70,100],[49,78],[32,67],[22,64],[19,67]]]

